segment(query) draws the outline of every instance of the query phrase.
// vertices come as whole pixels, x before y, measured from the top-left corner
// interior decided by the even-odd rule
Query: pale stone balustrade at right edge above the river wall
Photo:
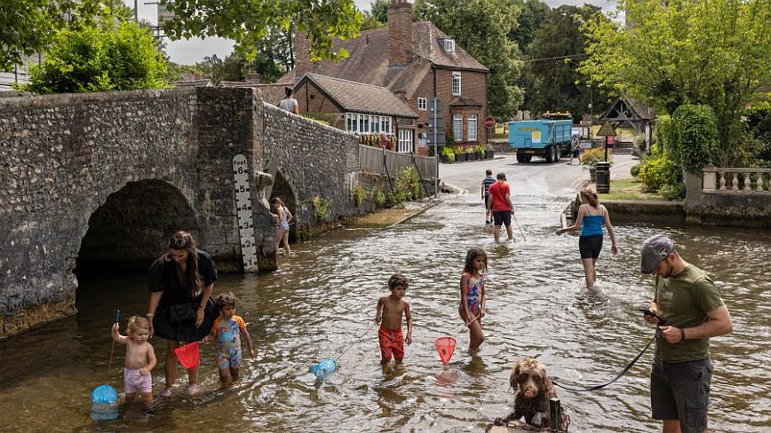
[[[702,169],[703,193],[771,193],[771,169]]]

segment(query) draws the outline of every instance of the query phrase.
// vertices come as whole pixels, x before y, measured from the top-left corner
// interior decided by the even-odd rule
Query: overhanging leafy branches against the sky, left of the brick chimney
[[[173,12],[163,29],[172,40],[193,36],[221,36],[235,41],[235,48],[247,59],[257,56],[257,47],[274,29],[289,31],[296,26],[313,45],[313,59],[345,58],[334,51],[335,37],[358,35],[362,14],[353,0],[162,0]]]

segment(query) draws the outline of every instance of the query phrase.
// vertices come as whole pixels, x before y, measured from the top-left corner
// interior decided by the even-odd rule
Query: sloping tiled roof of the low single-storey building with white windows
[[[385,87],[316,74],[306,74],[300,83],[306,79],[326,92],[345,111],[417,117],[417,114],[410,110],[409,106],[401,102],[400,98],[397,98]]]

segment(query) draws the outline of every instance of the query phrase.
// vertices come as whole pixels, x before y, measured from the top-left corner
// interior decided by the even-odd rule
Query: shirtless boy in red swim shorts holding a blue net
[[[392,275],[388,279],[388,288],[391,295],[378,299],[378,312],[375,322],[380,324],[378,340],[380,341],[380,364],[387,366],[393,359],[396,364],[401,364],[404,358],[404,342],[412,342],[412,314],[409,312],[409,303],[404,300],[407,294],[409,282],[406,277]],[[401,314],[407,319],[407,338],[401,333]],[[382,321],[381,321],[382,320]]]

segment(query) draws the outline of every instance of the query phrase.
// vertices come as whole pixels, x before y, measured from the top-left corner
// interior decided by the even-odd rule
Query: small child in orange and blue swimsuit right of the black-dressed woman
[[[231,292],[222,293],[214,300],[219,308],[219,318],[214,319],[211,336],[217,339],[217,364],[219,381],[223,387],[229,382],[238,381],[238,369],[241,367],[241,336],[246,340],[249,357],[254,358],[254,348],[246,331],[246,323],[235,315],[238,298]]]

